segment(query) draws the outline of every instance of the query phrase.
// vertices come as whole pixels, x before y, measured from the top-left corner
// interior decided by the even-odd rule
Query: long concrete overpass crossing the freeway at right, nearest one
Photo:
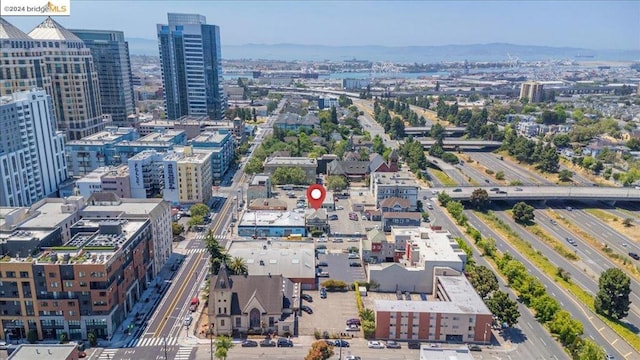
[[[459,186],[432,188],[432,192],[445,192],[453,200],[466,201],[475,189],[485,189],[490,200],[546,201],[546,200],[601,200],[640,201],[640,189],[599,186]],[[499,191],[492,189],[499,189]]]

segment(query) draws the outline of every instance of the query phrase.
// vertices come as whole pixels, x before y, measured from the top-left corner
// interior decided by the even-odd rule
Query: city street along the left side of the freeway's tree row
[[[432,196],[429,190],[422,189],[420,196]],[[435,198],[431,199],[433,202],[433,210],[429,211],[430,221],[432,225],[442,226],[443,229],[449,230],[454,237],[465,238],[458,227],[451,221],[451,219],[444,213],[444,210],[435,205]],[[487,236],[487,234],[483,234]],[[475,252],[477,254],[477,252]],[[478,265],[484,265],[491,268],[490,264],[484,257],[475,256],[476,263]],[[507,293],[510,293],[512,297],[516,297],[511,290],[502,280],[498,277],[500,283],[500,289]],[[505,332],[500,336],[500,342],[505,342],[509,339],[515,349],[511,352],[507,352],[504,357],[493,356],[492,359],[568,359],[567,354],[562,350],[562,347],[554,340],[551,335],[545,330],[540,323],[536,321],[533,314],[522,303],[518,303],[518,309],[520,311],[520,319],[518,324],[510,331]],[[494,334],[495,336],[495,334]]]

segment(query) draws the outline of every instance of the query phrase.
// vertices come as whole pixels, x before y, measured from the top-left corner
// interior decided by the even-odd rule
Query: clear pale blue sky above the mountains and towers
[[[640,50],[640,1],[71,0],[70,29],[156,39],[168,12],[199,13],[221,42],[420,46],[511,43]],[[6,17],[25,32],[43,17]]]

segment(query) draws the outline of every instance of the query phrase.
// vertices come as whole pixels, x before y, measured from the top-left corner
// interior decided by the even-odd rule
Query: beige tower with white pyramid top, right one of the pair
[[[58,129],[68,140],[78,140],[102,131],[108,118],[102,116],[98,73],[91,51],[72,32],[48,17],[29,33],[40,48],[51,77]]]

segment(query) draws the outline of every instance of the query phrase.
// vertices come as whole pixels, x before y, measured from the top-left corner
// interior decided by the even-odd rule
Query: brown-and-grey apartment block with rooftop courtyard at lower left
[[[170,206],[96,193],[3,208],[0,336],[111,337],[171,253]]]

